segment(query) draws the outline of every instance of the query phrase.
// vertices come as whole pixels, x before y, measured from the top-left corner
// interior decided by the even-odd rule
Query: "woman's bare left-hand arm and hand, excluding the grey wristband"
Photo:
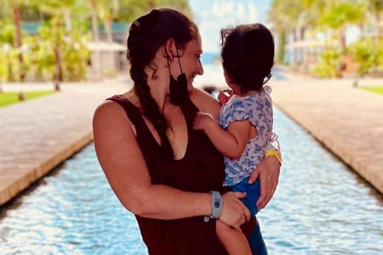
[[[209,193],[185,192],[151,183],[132,127],[119,104],[107,101],[97,108],[93,117],[93,135],[99,162],[112,190],[126,209],[140,216],[163,220],[211,214]],[[232,196],[236,195],[225,196],[224,210],[226,218],[235,218],[233,222],[227,220],[234,225],[234,221],[244,217],[245,208],[229,201]]]

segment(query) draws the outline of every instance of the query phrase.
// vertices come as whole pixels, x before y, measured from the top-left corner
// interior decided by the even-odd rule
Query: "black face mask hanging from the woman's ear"
[[[169,92],[170,92],[170,102],[175,105],[181,105],[189,99],[189,93],[187,92],[187,80],[186,75],[182,71],[181,62],[179,60],[179,55],[177,51],[177,58],[179,63],[179,68],[181,69],[181,74],[175,80],[170,72],[170,63],[168,58],[168,68],[170,75],[169,82]]]

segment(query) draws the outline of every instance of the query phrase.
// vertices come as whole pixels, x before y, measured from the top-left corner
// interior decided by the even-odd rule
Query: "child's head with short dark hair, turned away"
[[[271,78],[274,39],[262,24],[239,25],[221,30],[222,65],[227,81],[241,93],[262,89]]]

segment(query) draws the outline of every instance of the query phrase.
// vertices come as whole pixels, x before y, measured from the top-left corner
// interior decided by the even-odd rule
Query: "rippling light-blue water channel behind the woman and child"
[[[383,199],[275,108],[278,189],[259,220],[270,254],[383,254]],[[3,207],[0,254],[147,254],[93,143]]]

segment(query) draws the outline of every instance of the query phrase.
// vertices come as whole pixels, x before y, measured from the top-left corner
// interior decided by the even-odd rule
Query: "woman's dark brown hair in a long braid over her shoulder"
[[[142,112],[153,124],[161,137],[162,153],[166,158],[174,159],[173,149],[166,135],[169,122],[150,94],[147,84],[146,66],[153,70],[155,78],[157,66],[152,60],[169,39],[173,39],[180,50],[198,37],[196,24],[185,15],[172,9],[157,9],[139,17],[129,28],[127,38],[127,60],[131,65],[130,75],[134,82],[135,91],[140,98]],[[163,54],[164,57],[166,54]]]

